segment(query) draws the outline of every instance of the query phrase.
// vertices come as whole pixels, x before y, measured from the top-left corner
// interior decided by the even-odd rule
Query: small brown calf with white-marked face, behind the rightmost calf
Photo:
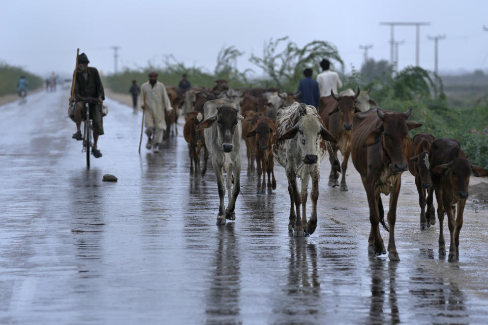
[[[415,176],[415,185],[418,191],[418,204],[420,205],[420,230],[427,230],[431,224],[436,224],[436,211],[432,205],[433,197],[429,189],[432,186],[431,173],[429,170],[429,154],[431,144],[435,140],[434,136],[420,133],[413,136],[410,150],[410,160],[408,170]],[[425,192],[430,193],[425,201]],[[427,213],[425,214],[425,203],[427,203]]]

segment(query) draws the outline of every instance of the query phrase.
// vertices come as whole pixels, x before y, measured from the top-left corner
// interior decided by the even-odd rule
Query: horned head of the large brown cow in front
[[[386,113],[378,109],[377,114],[382,122],[364,142],[365,146],[369,146],[381,141],[384,155],[390,161],[389,169],[392,175],[407,170],[407,155],[410,152],[408,132],[422,125],[415,121],[407,121],[411,113],[411,108],[404,113]]]

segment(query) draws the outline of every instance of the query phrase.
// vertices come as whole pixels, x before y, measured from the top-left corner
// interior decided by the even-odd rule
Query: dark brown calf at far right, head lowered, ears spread
[[[451,235],[447,261],[459,259],[459,232],[463,226],[463,212],[468,198],[469,175],[486,176],[484,168],[471,165],[461,150],[461,145],[454,139],[439,138],[431,146],[431,177],[437,200],[437,217],[439,218],[439,257],[446,257],[446,246],[442,223],[444,211],[447,213],[447,224]],[[457,204],[457,217],[454,218]]]

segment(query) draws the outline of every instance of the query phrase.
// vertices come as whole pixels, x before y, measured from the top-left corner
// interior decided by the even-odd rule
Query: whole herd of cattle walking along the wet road
[[[401,174],[408,169],[415,176],[419,194],[420,229],[426,230],[436,222],[435,192],[439,256],[445,257],[446,253],[442,224],[447,213],[448,261],[459,259],[459,233],[470,174],[486,176],[488,171],[470,164],[460,143],[454,139],[435,139],[422,133],[410,140],[409,131],[422,125],[408,120],[411,108],[404,113],[383,110],[369,98],[369,91],[359,89],[356,92],[348,89],[340,94],[331,91],[330,96],[320,98],[315,108],[299,103],[299,93],[263,88],[230,89],[226,80],[217,80],[213,89],[192,87],[185,93],[177,93],[168,87],[168,93],[174,107],[182,108],[186,118],[184,137],[191,159],[190,174],[205,175],[211,155],[220,197],[217,224],[225,224],[226,219],[235,220],[235,201],[240,191],[240,139],[243,138],[247,147],[247,173],[257,173],[258,194],[265,194],[266,189],[272,193],[276,188],[275,159],[285,168],[290,194],[288,230],[293,236],[311,235],[317,227],[322,158],[328,152],[331,165],[328,185],[347,191],[346,170],[352,154],[352,163],[361,176],[370,209],[369,254],[386,253],[380,235],[381,223],[389,232],[388,257],[391,261],[400,261],[394,241],[396,202]],[[167,118],[169,132],[176,118],[175,115]],[[202,150],[203,168],[200,169]],[[343,156],[342,164],[337,159],[338,151]],[[300,191],[297,177],[301,180]],[[311,178],[312,212],[307,220]],[[226,188],[227,208],[224,205]],[[390,195],[386,222],[380,193]]]

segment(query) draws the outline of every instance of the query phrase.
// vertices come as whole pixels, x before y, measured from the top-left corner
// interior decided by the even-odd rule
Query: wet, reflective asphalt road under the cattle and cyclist
[[[404,173],[401,262],[370,258],[352,164],[340,192],[327,186],[324,161],[317,230],[296,239],[284,169],[275,167],[275,193],[257,196],[242,155],[236,220],[219,227],[211,165],[203,179],[189,176],[181,127],[162,152],[143,147],[139,156],[141,113],[107,100],[103,157],[87,171],[68,97],[37,93],[0,107],[0,323],[487,322],[485,208],[468,202],[460,262],[448,263],[438,258],[439,224],[419,230],[414,179]],[[102,182],[106,173],[118,182]]]

